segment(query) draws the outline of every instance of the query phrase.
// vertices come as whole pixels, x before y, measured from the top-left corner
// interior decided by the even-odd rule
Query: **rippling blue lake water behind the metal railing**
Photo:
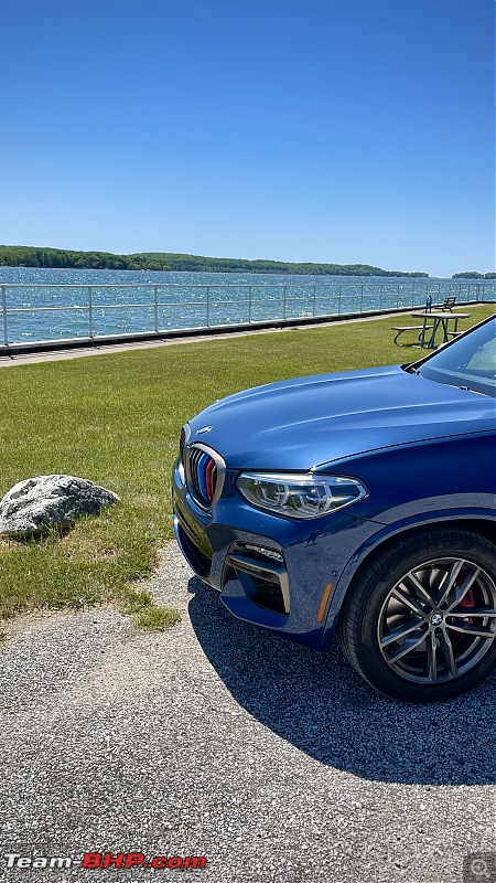
[[[429,295],[433,302],[448,295],[459,302],[493,300],[495,294],[494,280],[31,267],[0,267],[0,285],[7,307],[3,317],[0,301],[0,343],[6,323],[8,342],[21,343],[408,309]],[[51,309],[35,312],[40,307]]]

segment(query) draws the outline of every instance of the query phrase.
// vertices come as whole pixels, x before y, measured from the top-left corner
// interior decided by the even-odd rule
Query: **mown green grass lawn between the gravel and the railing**
[[[494,313],[473,307],[468,328]],[[67,472],[120,506],[65,536],[0,540],[0,616],[115,600],[143,627],[171,621],[140,585],[172,535],[170,472],[181,426],[216,398],[304,374],[413,361],[392,343],[396,316],[315,329],[0,368],[0,498],[18,481]]]

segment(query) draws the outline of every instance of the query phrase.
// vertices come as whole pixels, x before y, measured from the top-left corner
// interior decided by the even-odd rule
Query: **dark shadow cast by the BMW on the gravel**
[[[496,674],[449,702],[396,702],[355,673],[337,641],[325,653],[301,647],[236,619],[201,579],[192,578],[188,591],[193,628],[227,689],[300,751],[371,780],[496,780]]]

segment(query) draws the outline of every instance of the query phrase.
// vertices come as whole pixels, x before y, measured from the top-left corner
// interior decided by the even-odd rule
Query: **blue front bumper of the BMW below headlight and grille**
[[[222,593],[235,616],[320,647],[324,630],[335,627],[338,608],[333,597],[343,571],[380,525],[347,512],[311,521],[265,513],[245,501],[236,476],[227,470],[223,494],[206,512],[191,497],[175,464],[177,543],[195,573]],[[339,586],[339,597],[345,589]]]

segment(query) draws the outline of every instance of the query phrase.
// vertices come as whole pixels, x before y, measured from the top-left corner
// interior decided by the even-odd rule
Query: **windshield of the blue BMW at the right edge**
[[[496,396],[496,317],[411,370],[427,380]]]

